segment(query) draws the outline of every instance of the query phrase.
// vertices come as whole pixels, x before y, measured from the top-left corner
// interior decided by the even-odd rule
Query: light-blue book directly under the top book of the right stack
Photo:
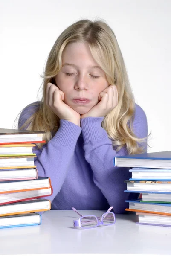
[[[171,169],[132,168],[130,180],[171,180]]]

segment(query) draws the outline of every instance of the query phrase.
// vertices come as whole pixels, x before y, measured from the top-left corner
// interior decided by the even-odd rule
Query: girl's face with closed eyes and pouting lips
[[[62,68],[55,81],[64,92],[64,102],[80,114],[98,104],[99,93],[109,84],[94,60],[88,44],[68,44],[62,53]]]

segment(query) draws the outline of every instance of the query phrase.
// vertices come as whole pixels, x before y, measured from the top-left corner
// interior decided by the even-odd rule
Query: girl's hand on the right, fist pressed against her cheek
[[[116,85],[110,85],[103,90],[98,97],[100,101],[97,105],[91,108],[87,113],[81,115],[84,117],[101,117],[106,116],[113,108],[118,105],[118,91]]]

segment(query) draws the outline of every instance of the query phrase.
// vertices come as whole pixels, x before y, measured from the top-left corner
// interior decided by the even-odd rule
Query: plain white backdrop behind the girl
[[[71,23],[102,18],[116,34],[149,152],[171,150],[171,0],[0,0],[0,128],[40,99],[44,64]]]

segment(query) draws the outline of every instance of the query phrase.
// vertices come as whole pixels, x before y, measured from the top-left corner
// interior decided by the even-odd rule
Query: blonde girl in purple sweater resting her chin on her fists
[[[51,209],[124,213],[135,196],[124,193],[130,168],[113,159],[145,152],[148,131],[112,29],[100,20],[69,26],[42,77],[43,97],[23,109],[18,128],[46,131],[34,153],[38,175],[52,181]]]

